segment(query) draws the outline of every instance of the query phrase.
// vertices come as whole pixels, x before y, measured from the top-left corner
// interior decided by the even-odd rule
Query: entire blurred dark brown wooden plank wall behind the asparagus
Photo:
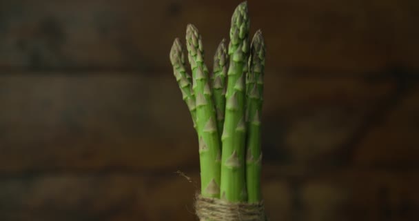
[[[169,50],[239,1],[0,1],[0,220],[196,220]],[[249,1],[271,220],[419,220],[419,2]],[[183,171],[192,183],[177,175]]]

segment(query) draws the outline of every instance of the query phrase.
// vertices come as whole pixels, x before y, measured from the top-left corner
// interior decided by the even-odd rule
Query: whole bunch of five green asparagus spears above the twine
[[[202,197],[257,204],[262,201],[260,113],[265,43],[260,30],[249,42],[246,2],[234,10],[229,38],[228,47],[223,39],[216,50],[211,77],[201,35],[192,24],[186,32],[192,77],[185,68],[179,39],[174,41],[170,61],[198,135]]]

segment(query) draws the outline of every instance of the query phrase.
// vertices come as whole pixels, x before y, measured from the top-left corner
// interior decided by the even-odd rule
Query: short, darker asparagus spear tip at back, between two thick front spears
[[[228,68],[228,54],[225,47],[225,39],[218,45],[214,55],[214,68],[212,75],[212,92],[214,93],[214,104],[216,108],[218,134],[223,133],[225,114],[225,77]]]

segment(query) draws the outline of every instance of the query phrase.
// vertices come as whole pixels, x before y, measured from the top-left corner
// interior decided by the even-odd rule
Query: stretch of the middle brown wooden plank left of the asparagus
[[[198,165],[172,76],[23,75],[0,85],[1,171]]]

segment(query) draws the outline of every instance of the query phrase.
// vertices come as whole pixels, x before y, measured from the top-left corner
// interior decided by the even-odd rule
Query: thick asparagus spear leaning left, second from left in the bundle
[[[204,197],[220,197],[221,145],[216,126],[216,113],[208,82],[208,70],[204,64],[203,44],[198,29],[187,26],[186,46],[192,68],[192,89],[196,97],[196,124],[199,135],[201,164],[201,194]]]

